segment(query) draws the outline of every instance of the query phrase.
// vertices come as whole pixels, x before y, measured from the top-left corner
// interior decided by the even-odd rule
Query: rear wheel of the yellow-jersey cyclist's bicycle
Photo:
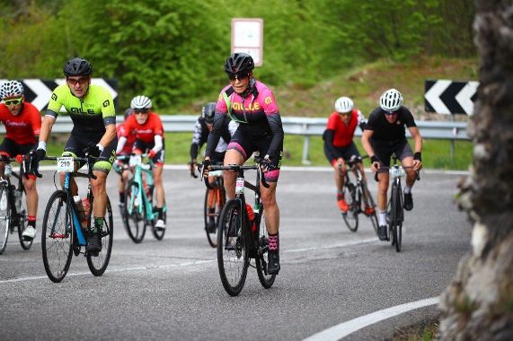
[[[93,207],[93,197],[89,198],[91,207]],[[114,219],[112,218],[112,207],[111,200],[107,197],[107,206],[105,210],[106,216],[103,222],[102,228],[102,250],[98,253],[97,257],[87,254],[87,266],[93,275],[103,275],[105,269],[109,265],[111,260],[112,252],[112,237],[114,232]],[[88,225],[91,226],[93,220],[93,214],[90,214],[90,222]]]

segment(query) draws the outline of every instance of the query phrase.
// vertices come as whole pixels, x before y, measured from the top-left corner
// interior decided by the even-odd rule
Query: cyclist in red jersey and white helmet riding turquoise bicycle
[[[136,140],[133,153],[147,153],[148,157],[155,164],[153,176],[158,213],[155,227],[165,229],[163,212],[165,193],[162,184],[162,173],[164,170],[164,127],[162,126],[162,120],[158,114],[151,110],[152,101],[146,96],[134,97],[130,102],[130,107],[134,109],[134,113],[125,122],[125,131],[119,139],[116,152],[119,153],[123,150],[128,140],[128,133],[134,131]]]

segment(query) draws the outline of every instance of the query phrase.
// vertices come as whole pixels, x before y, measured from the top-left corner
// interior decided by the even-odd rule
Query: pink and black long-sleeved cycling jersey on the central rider
[[[205,151],[206,156],[210,156],[217,145],[226,115],[240,123],[235,133],[240,138],[249,139],[248,142],[270,138],[269,145],[263,151],[264,155],[269,154],[276,158],[276,155],[281,153],[283,127],[276,100],[267,85],[254,79],[250,82],[251,92],[245,98],[234,92],[231,85],[227,85],[219,94],[214,127],[208,137],[207,150]],[[252,151],[241,150],[239,152],[242,152],[245,158],[251,156],[252,153]]]

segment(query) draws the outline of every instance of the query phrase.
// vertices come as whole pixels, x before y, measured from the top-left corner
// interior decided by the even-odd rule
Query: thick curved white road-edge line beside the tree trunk
[[[305,338],[305,341],[340,340],[342,337],[347,337],[349,334],[373,325],[376,322],[393,318],[394,316],[401,315],[402,313],[408,312],[410,310],[415,310],[434,304],[438,304],[438,297],[431,297],[425,300],[404,303],[384,310],[378,310],[370,314],[360,316],[357,319],[350,319],[349,321],[333,326],[332,328],[327,328],[317,334],[314,334],[312,337]]]

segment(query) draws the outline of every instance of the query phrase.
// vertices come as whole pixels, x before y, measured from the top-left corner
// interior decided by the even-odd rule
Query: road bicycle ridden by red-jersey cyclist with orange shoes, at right
[[[357,232],[358,214],[364,214],[370,219],[377,234],[376,203],[367,188],[367,182],[364,180],[363,174],[358,167],[358,162],[359,160],[357,159],[345,162],[345,172],[342,171],[342,165],[339,164],[339,174],[344,177],[344,198],[349,205],[349,211],[343,212],[342,218],[349,231]],[[372,212],[367,212],[367,207],[372,207]]]

